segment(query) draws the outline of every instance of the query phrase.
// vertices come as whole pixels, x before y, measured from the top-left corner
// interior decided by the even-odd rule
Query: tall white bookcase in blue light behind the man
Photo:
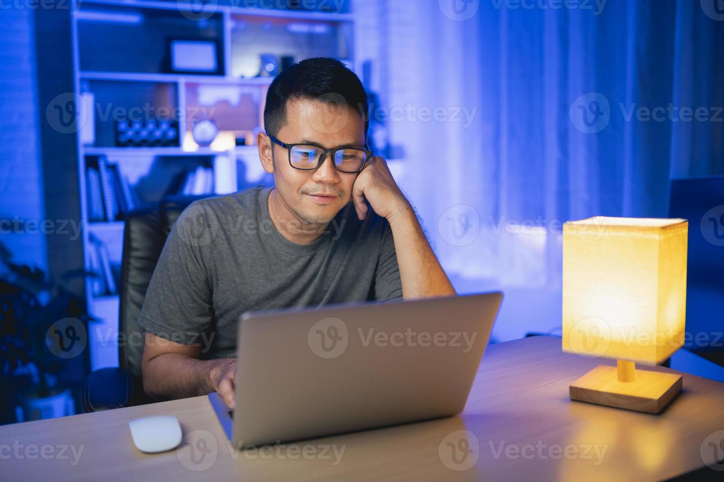
[[[261,55],[291,56],[294,61],[334,56],[355,67],[350,1],[343,1],[339,12],[305,11],[294,7],[295,0],[287,0],[294,8],[285,9],[246,8],[245,2],[234,0],[212,3],[214,11],[196,20],[192,6],[182,1],[85,0],[61,21],[70,23],[73,91],[80,95],[79,108],[85,109],[73,147],[83,264],[99,275],[85,283],[88,308],[98,318],[88,332],[92,370],[118,363],[117,291],[125,212],[158,202],[171,194],[174,183],[183,186],[200,168],[209,176],[195,183],[204,192],[225,194],[271,184],[253,145],[273,79],[258,75]],[[271,3],[278,7],[284,2]],[[213,44],[216,71],[176,72],[169,61],[172,40]],[[146,123],[161,119],[156,115],[161,110],[179,113],[170,116],[175,123],[164,126],[176,129],[176,135],[165,145],[119,145],[118,124],[124,120],[134,135],[153,129],[167,135],[158,122],[133,127],[131,113],[138,108],[140,121]],[[214,121],[219,134],[202,147],[192,130],[203,119]],[[106,171],[105,179],[101,171]],[[173,192],[182,190],[177,186]]]

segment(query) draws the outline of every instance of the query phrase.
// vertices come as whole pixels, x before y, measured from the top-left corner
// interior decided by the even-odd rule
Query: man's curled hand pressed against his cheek
[[[412,210],[405,194],[400,191],[395,179],[392,178],[387,161],[376,155],[369,158],[352,186],[352,199],[357,217],[361,220],[367,215],[365,198],[374,212],[388,221],[407,210]]]

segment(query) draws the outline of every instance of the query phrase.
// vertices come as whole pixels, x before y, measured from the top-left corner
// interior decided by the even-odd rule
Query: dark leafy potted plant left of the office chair
[[[43,270],[14,264],[1,244],[0,261],[7,267],[0,280],[0,372],[12,380],[4,392],[14,394],[0,401],[4,421],[12,421],[7,418],[11,404],[16,421],[72,415],[71,386],[82,383],[87,372],[87,357],[80,356],[92,319],[85,302]],[[63,280],[88,275],[78,270]]]

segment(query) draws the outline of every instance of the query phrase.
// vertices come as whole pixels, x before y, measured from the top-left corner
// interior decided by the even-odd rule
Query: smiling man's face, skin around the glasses
[[[326,149],[365,145],[362,116],[345,103],[300,98],[287,101],[286,112],[286,122],[276,136],[281,142],[310,143]],[[264,169],[274,173],[279,197],[300,220],[309,224],[327,224],[350,201],[357,173],[337,171],[331,155],[325,156],[324,162],[315,171],[300,171],[289,165],[289,151],[285,147],[260,134],[262,139],[269,143],[269,147],[259,143]],[[273,163],[271,156],[266,156],[271,153],[269,148],[273,152]],[[327,194],[332,198],[316,198],[313,194]]]

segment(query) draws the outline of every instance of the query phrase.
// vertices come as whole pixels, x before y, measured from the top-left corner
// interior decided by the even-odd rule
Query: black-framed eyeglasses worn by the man
[[[367,159],[372,155],[371,150],[358,147],[324,149],[324,147],[315,144],[286,144],[272,135],[269,135],[269,139],[274,144],[278,144],[289,151],[289,165],[300,171],[314,171],[324,162],[327,154],[331,154],[332,160],[334,160],[334,168],[337,171],[358,173],[362,171]]]

